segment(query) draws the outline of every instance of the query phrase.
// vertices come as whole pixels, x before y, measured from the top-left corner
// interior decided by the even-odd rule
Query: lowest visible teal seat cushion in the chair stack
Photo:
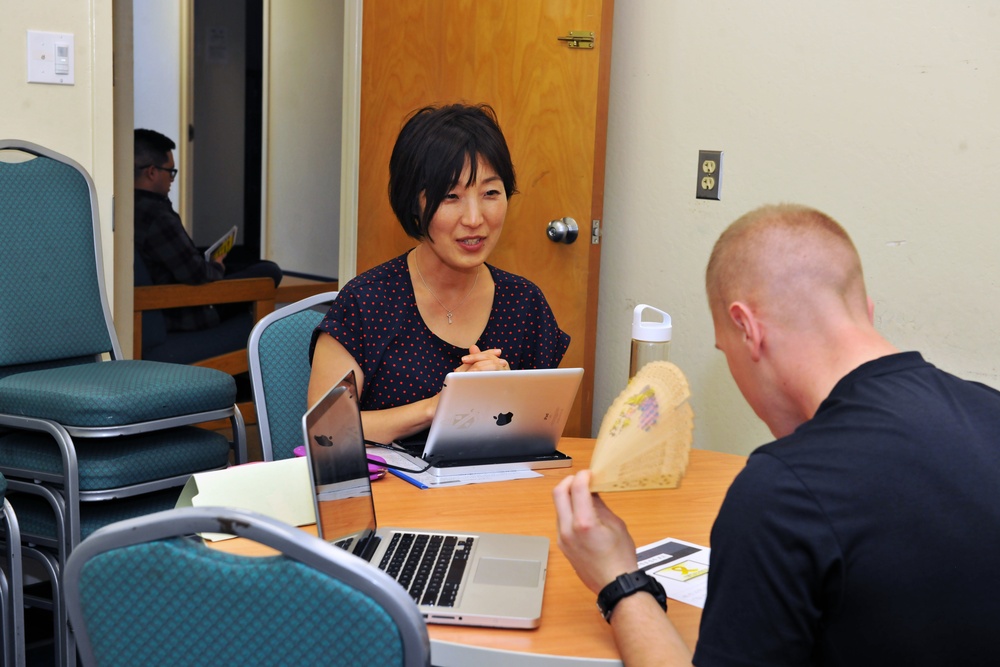
[[[80,539],[116,521],[173,509],[180,495],[181,487],[175,487],[128,498],[80,503]],[[12,492],[9,499],[17,514],[22,539],[55,542],[55,513],[44,498],[17,491]]]

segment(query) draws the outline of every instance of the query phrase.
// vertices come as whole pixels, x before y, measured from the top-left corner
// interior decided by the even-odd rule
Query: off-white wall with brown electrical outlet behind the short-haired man
[[[614,20],[595,432],[649,303],[673,316],[696,446],[770,439],[703,286],[719,233],[770,202],[847,228],[889,340],[1000,387],[1000,5],[619,0]],[[722,201],[694,197],[699,149],[725,151]]]

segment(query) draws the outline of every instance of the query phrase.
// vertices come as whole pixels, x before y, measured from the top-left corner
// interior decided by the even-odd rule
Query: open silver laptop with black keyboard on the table
[[[302,428],[320,537],[388,572],[428,623],[538,627],[547,537],[377,525],[353,372]],[[438,560],[424,565],[423,556]]]

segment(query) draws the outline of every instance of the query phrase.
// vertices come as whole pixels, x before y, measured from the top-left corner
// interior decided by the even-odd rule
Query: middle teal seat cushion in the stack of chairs
[[[74,438],[73,443],[80,491],[118,489],[229,463],[229,440],[194,426],[118,438]],[[62,457],[47,434],[15,432],[0,437],[0,470],[12,478],[17,470],[61,478]]]

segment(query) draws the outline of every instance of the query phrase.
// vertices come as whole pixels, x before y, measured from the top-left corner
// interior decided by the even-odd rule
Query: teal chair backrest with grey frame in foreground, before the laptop
[[[276,557],[192,537],[245,537]],[[188,507],[106,526],[66,563],[84,665],[427,665],[416,603],[378,568],[274,519]]]

